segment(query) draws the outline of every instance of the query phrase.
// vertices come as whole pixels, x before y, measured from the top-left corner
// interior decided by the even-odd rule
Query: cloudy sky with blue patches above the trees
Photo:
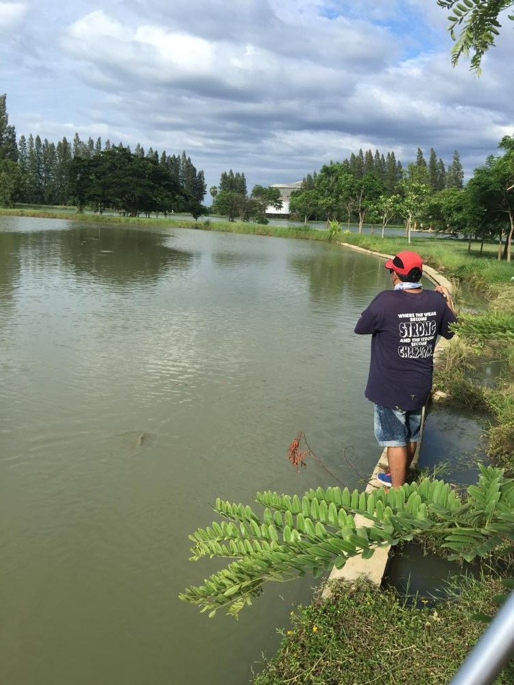
[[[450,63],[436,0],[0,0],[0,93],[17,136],[186,151],[208,188],[301,180],[420,147],[465,177],[514,134],[513,22],[482,76]],[[206,197],[208,199],[208,196]]]

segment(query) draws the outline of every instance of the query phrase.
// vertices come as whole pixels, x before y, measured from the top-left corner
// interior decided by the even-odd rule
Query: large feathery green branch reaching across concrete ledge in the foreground
[[[501,469],[479,468],[478,483],[465,495],[424,478],[373,493],[339,487],[312,489],[303,497],[256,493],[262,513],[218,498],[214,509],[222,521],[189,536],[191,559],[230,562],[179,597],[209,616],[218,610],[238,616],[268,582],[305,573],[319,577],[354,556],[369,559],[378,547],[415,537],[437,538],[453,559],[506,555],[514,540],[514,482]],[[356,522],[358,514],[367,525]]]

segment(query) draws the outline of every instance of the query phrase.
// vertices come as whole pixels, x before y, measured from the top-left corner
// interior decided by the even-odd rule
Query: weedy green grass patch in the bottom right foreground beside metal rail
[[[425,608],[365,582],[334,586],[291,616],[282,644],[254,685],[440,685],[450,680],[484,630],[473,614],[493,615],[506,590],[497,577],[454,580],[450,597]],[[514,682],[511,662],[497,684]]]

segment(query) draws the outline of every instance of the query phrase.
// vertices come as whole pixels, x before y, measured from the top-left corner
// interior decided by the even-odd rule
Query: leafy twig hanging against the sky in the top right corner
[[[452,12],[448,16],[448,31],[455,45],[452,64],[456,66],[461,55],[472,53],[470,69],[480,74],[482,57],[494,46],[495,37],[502,27],[498,16],[514,6],[513,0],[437,0],[439,7]],[[514,21],[514,13],[507,18]],[[456,31],[460,28],[460,33]]]

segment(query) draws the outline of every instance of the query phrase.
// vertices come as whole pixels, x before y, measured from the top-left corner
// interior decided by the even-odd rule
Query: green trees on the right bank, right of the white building
[[[406,169],[393,152],[351,155],[330,162],[318,173],[304,177],[293,192],[289,209],[293,216],[327,221],[331,232],[341,224],[365,223],[385,227],[404,223],[408,241],[411,230],[434,229],[470,238],[498,238],[499,258],[511,260],[514,233],[514,136],[504,136],[499,155],[489,155],[483,166],[464,184],[458,151],[445,166],[434,149],[426,162],[418,148],[417,158]],[[504,240],[506,236],[506,239]],[[503,242],[504,240],[504,242]]]

